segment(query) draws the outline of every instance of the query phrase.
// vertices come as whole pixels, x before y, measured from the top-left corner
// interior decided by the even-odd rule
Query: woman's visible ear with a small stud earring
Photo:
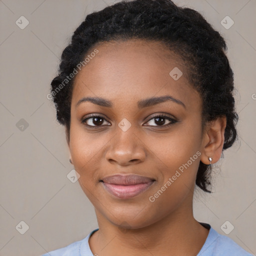
[[[210,164],[208,157],[212,158],[211,163],[219,160],[224,144],[225,127],[225,116],[218,117],[216,120],[207,123],[202,140],[201,161],[203,163]]]

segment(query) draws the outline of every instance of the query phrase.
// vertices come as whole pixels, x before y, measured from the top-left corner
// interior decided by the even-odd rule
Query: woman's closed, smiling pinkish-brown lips
[[[135,174],[115,174],[100,181],[110,194],[119,199],[128,199],[145,191],[155,179]]]

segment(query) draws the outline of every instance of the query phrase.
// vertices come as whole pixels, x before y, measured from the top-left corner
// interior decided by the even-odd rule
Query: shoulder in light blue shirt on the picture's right
[[[253,256],[231,238],[210,227],[208,237],[197,256]]]

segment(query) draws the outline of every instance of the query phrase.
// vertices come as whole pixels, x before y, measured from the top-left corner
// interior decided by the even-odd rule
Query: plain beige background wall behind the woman
[[[0,255],[40,255],[97,227],[92,204],[66,177],[64,128],[46,94],[74,29],[112,2],[0,0]],[[225,38],[240,118],[239,141],[217,163],[213,193],[195,193],[194,215],[221,234],[228,220],[234,229],[227,236],[255,255],[256,1],[174,2],[198,10]],[[29,21],[24,29],[15,24],[21,15]],[[234,21],[229,29],[220,23],[226,15]],[[21,220],[29,226],[24,234],[15,228]]]

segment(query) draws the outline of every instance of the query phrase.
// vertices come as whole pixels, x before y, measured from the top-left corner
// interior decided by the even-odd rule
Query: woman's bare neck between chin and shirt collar
[[[93,255],[197,255],[209,232],[194,219],[192,205],[140,228],[117,226],[95,211],[99,230],[89,239]]]

